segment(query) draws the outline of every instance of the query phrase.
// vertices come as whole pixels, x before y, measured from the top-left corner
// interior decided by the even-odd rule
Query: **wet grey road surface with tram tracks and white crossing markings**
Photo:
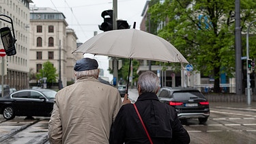
[[[129,98],[137,100],[136,89],[129,90]],[[210,102],[210,117],[205,124],[197,119],[183,123],[190,134],[192,144],[198,143],[256,143],[256,103],[251,106],[244,103]],[[0,116],[0,143],[6,144],[42,144],[48,143],[49,117],[15,117],[5,121]]]

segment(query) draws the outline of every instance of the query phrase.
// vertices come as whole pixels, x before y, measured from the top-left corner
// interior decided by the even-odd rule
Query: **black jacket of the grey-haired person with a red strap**
[[[190,143],[190,136],[177,118],[175,109],[160,102],[155,93],[141,94],[135,104],[154,144]],[[150,143],[132,104],[125,104],[119,110],[111,127],[109,142]]]

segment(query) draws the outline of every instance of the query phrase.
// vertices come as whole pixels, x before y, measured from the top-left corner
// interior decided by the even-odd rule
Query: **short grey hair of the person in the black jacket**
[[[143,72],[138,78],[138,85],[141,87],[141,93],[156,93],[160,85],[158,76],[151,71]]]

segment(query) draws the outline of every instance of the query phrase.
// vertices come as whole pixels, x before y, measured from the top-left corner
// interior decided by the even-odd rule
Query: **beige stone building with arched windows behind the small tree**
[[[43,63],[50,61],[56,68],[61,87],[74,81],[74,63],[83,55],[72,54],[76,49],[76,34],[67,28],[63,13],[51,8],[30,8],[30,63],[31,74],[42,69]],[[42,83],[31,79],[30,83]]]

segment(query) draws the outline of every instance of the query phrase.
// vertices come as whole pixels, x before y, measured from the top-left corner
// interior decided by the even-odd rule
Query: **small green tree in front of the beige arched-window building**
[[[56,73],[56,68],[53,66],[53,63],[50,61],[46,61],[43,63],[43,68],[39,70],[38,74],[36,74],[37,80],[42,80],[42,78],[47,78],[46,83],[51,84],[51,83],[56,83],[56,78],[58,74]]]

